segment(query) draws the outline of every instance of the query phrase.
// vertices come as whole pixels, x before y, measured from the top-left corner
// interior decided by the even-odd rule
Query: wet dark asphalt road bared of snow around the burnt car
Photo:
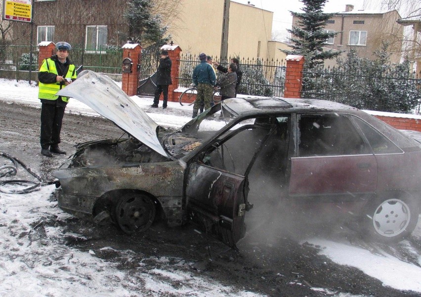
[[[0,111],[0,150],[19,158],[45,179],[51,179],[50,172],[60,166],[69,154],[53,158],[41,155],[40,110],[16,103],[8,104],[0,99]],[[106,119],[66,114],[60,148],[71,153],[77,143],[118,138],[122,134],[119,128]],[[357,232],[343,224],[307,223],[298,226],[291,223],[280,226],[271,236],[259,237],[257,235],[266,234],[265,231],[274,222],[264,218],[260,223],[255,223],[257,219],[252,217],[254,223],[248,225],[246,238],[238,244],[239,251],[229,249],[206,234],[199,234],[189,224],[174,230],[158,222],[142,235],[127,236],[115,226],[99,226],[79,219],[61,223],[67,225],[69,232],[79,233],[84,238],[68,238],[65,244],[84,251],[113,246],[116,252],[97,253],[96,256],[120,262],[120,269],[126,271],[149,269],[156,267],[157,263],[149,260],[146,265],[144,262],[142,267],[138,267],[138,262],[120,257],[119,249],[132,250],[143,258],[165,256],[174,261],[175,270],[189,271],[193,276],[206,275],[222,284],[268,296],[337,296],[339,293],[357,296],[420,296],[418,293],[384,287],[379,280],[354,267],[338,265],[318,255],[317,246],[302,244],[306,236],[338,238],[370,251],[381,249],[399,259],[418,264],[421,244],[415,238],[409,239],[416,249],[415,256],[414,253],[411,256],[411,252],[399,244],[384,246],[364,242]],[[283,220],[292,222],[290,220],[293,219],[285,217]],[[194,265],[175,265],[179,260],[188,260],[194,262]],[[328,291],[321,292],[312,288]]]

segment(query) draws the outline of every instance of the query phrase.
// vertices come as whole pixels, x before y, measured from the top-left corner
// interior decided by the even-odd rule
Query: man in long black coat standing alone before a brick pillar
[[[161,59],[159,60],[159,66],[157,70],[157,87],[155,89],[154,104],[151,107],[157,108],[159,105],[159,97],[161,93],[164,94],[164,102],[162,108],[167,108],[168,101],[168,85],[171,84],[171,59],[168,57],[168,51],[163,50],[161,52]]]

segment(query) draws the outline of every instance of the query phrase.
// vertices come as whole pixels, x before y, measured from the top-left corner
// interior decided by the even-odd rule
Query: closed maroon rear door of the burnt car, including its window
[[[358,197],[377,187],[376,157],[348,115],[298,114],[291,196]]]

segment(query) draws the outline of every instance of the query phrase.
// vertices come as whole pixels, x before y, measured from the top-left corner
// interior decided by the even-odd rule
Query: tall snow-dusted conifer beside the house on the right
[[[304,3],[303,13],[293,12],[297,17],[298,26],[293,26],[291,30],[290,42],[292,50],[282,50],[286,54],[302,55],[305,59],[306,68],[314,68],[323,64],[326,59],[332,59],[340,54],[340,51],[326,50],[322,47],[326,44],[329,37],[334,37],[338,32],[325,32],[325,22],[329,20],[333,13],[324,13],[323,7],[327,0],[301,0]]]

